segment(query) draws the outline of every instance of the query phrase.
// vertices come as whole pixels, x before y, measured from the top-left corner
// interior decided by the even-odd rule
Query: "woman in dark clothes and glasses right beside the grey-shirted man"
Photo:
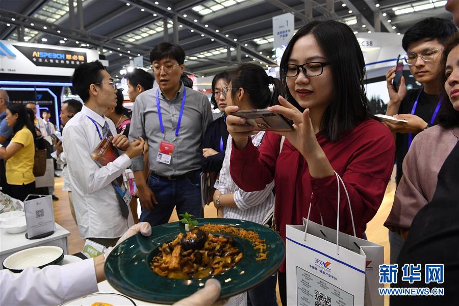
[[[206,129],[202,138],[202,171],[207,173],[208,185],[214,186],[218,172],[220,172],[223,159],[225,157],[226,141],[228,131],[226,130],[226,91],[230,83],[230,75],[223,71],[215,75],[212,80],[212,97],[211,104],[214,109],[219,109],[221,116],[212,121]],[[209,188],[209,194],[206,203],[212,201],[213,188]]]

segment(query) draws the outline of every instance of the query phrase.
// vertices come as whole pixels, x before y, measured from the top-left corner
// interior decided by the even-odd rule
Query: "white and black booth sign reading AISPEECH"
[[[98,59],[97,50],[0,40],[0,73],[69,77],[78,65]]]

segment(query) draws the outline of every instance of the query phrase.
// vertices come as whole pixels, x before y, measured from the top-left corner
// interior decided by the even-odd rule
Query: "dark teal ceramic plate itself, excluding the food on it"
[[[232,225],[258,233],[265,240],[267,259],[256,261],[257,251],[248,240],[234,236],[235,245],[244,253],[242,260],[232,269],[213,276],[221,284],[220,298],[231,297],[262,283],[277,271],[285,256],[284,241],[269,228],[254,222],[206,218],[197,219],[199,225]],[[119,292],[144,301],[171,304],[202,288],[207,278],[171,279],[153,272],[149,264],[159,252],[158,247],[173,240],[177,234],[185,232],[180,222],[153,227],[152,235],[137,234],[115,247],[105,262],[107,281]],[[230,236],[230,234],[219,233]]]

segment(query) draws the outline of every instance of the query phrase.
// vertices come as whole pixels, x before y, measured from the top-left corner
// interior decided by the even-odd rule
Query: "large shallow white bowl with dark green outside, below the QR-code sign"
[[[59,246],[37,246],[11,254],[3,261],[3,267],[18,273],[28,267],[41,269],[48,265],[57,264],[63,258],[64,250]]]

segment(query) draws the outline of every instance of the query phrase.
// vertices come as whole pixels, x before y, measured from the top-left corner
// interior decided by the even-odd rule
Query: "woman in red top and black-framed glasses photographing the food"
[[[231,176],[245,191],[263,189],[275,180],[276,225],[285,239],[286,224],[310,219],[352,234],[343,188],[337,207],[336,171],[349,192],[355,231],[363,237],[376,214],[390,179],[394,138],[367,108],[365,62],[360,45],[346,24],[313,21],[290,40],[281,61],[281,80],[287,88],[281,105],[270,107],[293,120],[294,131],[265,134],[257,149],[248,141],[253,127],[225,109],[233,137]],[[239,89],[233,89],[239,90]],[[279,154],[281,135],[286,137]],[[285,264],[279,269],[279,291],[286,304]]]

